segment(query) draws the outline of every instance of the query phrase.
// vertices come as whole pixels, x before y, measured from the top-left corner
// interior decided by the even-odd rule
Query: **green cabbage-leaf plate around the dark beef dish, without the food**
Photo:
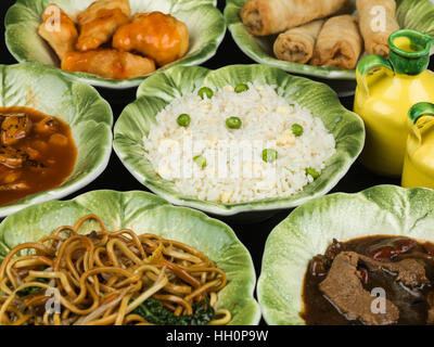
[[[378,185],[357,194],[336,193],[312,200],[270,233],[257,296],[271,325],[304,324],[303,280],[309,260],[333,239],[405,235],[434,241],[434,191]]]

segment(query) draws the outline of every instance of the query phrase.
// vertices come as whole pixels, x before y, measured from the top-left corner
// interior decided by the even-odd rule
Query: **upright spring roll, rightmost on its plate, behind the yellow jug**
[[[356,5],[366,51],[388,56],[388,36],[399,29],[395,0],[357,0]]]

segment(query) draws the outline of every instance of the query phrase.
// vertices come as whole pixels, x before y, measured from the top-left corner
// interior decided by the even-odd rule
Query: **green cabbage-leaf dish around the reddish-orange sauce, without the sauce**
[[[28,205],[64,197],[101,175],[112,152],[113,115],[108,103],[93,87],[30,63],[0,65],[0,78],[1,107],[27,106],[63,119],[69,125],[77,146],[74,170],[60,187],[0,206],[0,217]]]

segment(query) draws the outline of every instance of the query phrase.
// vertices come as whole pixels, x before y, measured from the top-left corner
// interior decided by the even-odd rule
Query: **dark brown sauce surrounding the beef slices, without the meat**
[[[383,256],[388,255],[387,261],[398,261],[404,257],[417,258],[421,261],[425,269],[426,278],[430,284],[422,285],[416,288],[406,287],[401,282],[396,282],[395,277],[385,271],[369,271],[362,268],[362,271],[368,272],[368,282],[363,283],[363,288],[371,291],[374,287],[382,287],[386,292],[386,298],[391,300],[399,309],[398,325],[423,325],[427,321],[427,311],[430,305],[427,303],[429,293],[434,291],[434,262],[424,260],[418,257],[418,254],[429,254],[430,249],[434,249],[430,243],[421,244],[412,241],[411,249],[405,250],[400,255],[391,254],[387,249],[387,244],[391,242],[399,242],[401,236],[368,236],[354,239],[348,242],[341,243],[345,252],[356,252],[358,254],[373,257],[379,248],[383,248]],[[405,237],[407,239],[407,237]],[[407,239],[409,240],[409,239]],[[376,249],[375,249],[376,248]],[[385,250],[384,250],[385,249]],[[385,260],[385,258],[384,258]],[[306,271],[303,285],[303,303],[304,309],[301,317],[308,325],[355,325],[362,324],[360,320],[348,320],[342,314],[339,309],[328,299],[319,290],[319,284],[326,279],[327,272],[314,275],[311,271],[312,260]],[[433,295],[433,294],[430,294]]]

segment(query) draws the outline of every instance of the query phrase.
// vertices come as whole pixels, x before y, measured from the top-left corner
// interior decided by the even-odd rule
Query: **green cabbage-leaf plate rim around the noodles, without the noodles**
[[[108,230],[131,229],[154,233],[186,243],[216,262],[228,277],[228,285],[218,294],[218,308],[232,313],[230,324],[258,324],[260,310],[253,298],[255,270],[248,250],[234,232],[205,214],[174,207],[165,200],[144,192],[93,191],[65,202],[30,206],[0,224],[0,261],[17,244],[37,241],[60,226],[73,226],[87,214],[100,216]],[[90,221],[82,233],[99,230]]]

